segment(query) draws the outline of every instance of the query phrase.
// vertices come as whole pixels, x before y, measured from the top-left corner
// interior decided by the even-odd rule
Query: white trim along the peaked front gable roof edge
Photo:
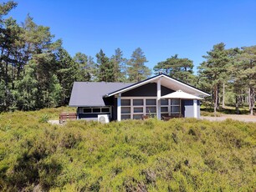
[[[177,80],[175,80],[175,79],[173,79],[173,78],[171,78],[171,77],[168,77],[167,75],[161,74],[161,75],[157,75],[157,76],[154,77],[154,78],[150,78],[150,79],[148,79],[148,80],[142,81],[141,83],[135,83],[134,85],[131,85],[131,86],[129,86],[128,88],[122,88],[122,89],[120,89],[120,90],[118,90],[118,91],[115,91],[115,92],[113,92],[113,93],[106,94],[105,97],[110,97],[110,96],[115,95],[115,94],[117,94],[117,93],[124,93],[124,92],[129,91],[129,90],[131,90],[131,89],[133,89],[133,88],[141,87],[141,85],[144,85],[144,84],[146,84],[146,83],[150,83],[151,81],[155,81],[157,78],[167,78],[167,79],[169,79],[169,80],[171,80],[171,81],[173,81],[173,82],[175,82],[175,83],[182,84],[183,86],[185,86],[185,87],[187,87],[187,88],[191,88],[192,90],[195,90],[195,91],[197,91],[198,93],[202,93],[203,96],[210,96],[210,94],[205,93],[205,92],[202,92],[201,90],[199,90],[199,89],[197,89],[197,88],[193,88],[193,87],[190,86],[190,85],[187,85],[187,84],[185,84],[185,83],[182,83],[182,82],[180,82],[180,81],[177,81]]]

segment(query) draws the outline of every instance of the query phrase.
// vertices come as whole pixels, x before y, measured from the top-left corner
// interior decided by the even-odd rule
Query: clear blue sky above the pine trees
[[[3,2],[3,1],[2,1]],[[6,1],[4,1],[6,2]],[[9,16],[48,26],[74,56],[108,57],[120,48],[125,58],[142,48],[146,65],[178,54],[197,66],[216,43],[226,48],[256,44],[255,0],[16,0]]]

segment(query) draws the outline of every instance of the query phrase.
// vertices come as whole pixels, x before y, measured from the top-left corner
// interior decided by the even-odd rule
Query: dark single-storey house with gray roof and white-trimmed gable
[[[78,119],[142,119],[143,116],[179,114],[200,117],[200,99],[209,93],[166,74],[139,83],[74,82],[69,106],[77,107]]]

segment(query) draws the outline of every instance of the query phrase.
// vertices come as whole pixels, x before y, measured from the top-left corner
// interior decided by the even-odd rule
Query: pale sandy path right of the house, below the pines
[[[223,116],[221,116],[221,117],[201,116],[200,119],[207,119],[210,121],[223,121],[226,119],[233,119],[233,120],[238,120],[238,121],[256,123],[255,115],[245,115],[245,114],[223,114]]]

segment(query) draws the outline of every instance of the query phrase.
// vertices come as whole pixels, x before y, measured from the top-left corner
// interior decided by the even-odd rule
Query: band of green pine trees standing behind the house
[[[38,25],[28,14],[23,23],[8,17],[18,4],[0,4],[0,112],[34,110],[69,103],[74,81],[138,82],[151,76],[141,48],[125,58],[120,48],[108,56],[103,49],[95,58],[85,53],[69,55],[62,40],[49,27]],[[225,48],[218,43],[202,56],[196,74],[193,61],[174,54],[156,63],[155,74],[166,73],[212,93],[206,102],[248,106],[253,114],[256,88],[256,46]]]

